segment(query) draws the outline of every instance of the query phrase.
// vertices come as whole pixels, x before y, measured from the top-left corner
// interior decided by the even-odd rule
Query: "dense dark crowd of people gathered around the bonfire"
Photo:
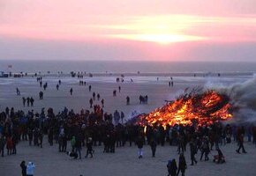
[[[7,155],[17,153],[17,144],[24,140],[28,145],[42,147],[44,136],[48,138],[50,146],[58,144],[59,152],[66,152],[67,143],[71,141],[71,149],[81,157],[82,147],[87,147],[87,155],[93,158],[93,147],[103,145],[102,152],[115,153],[117,148],[126,143],[138,146],[139,158],[143,158],[143,146],[150,145],[152,157],[156,156],[158,145],[177,146],[177,154],[180,154],[176,169],[176,162],[172,159],[168,164],[169,175],[181,172],[184,175],[186,163],[184,153],[189,146],[191,165],[197,164],[195,155],[200,152],[200,160],[209,160],[212,150],[218,151],[216,163],[222,163],[224,156],[221,145],[237,142],[237,153],[246,153],[244,138],[248,142],[256,144],[256,127],[238,127],[235,125],[222,125],[215,123],[209,126],[183,126],[163,127],[161,124],[140,126],[138,124],[124,123],[124,113],[115,111],[114,114],[103,112],[102,107],[95,105],[93,111],[81,110],[75,114],[72,110],[64,108],[58,114],[52,108],[47,111],[41,109],[41,113],[29,111],[14,111],[14,108],[6,107],[0,114],[0,151],[4,157],[4,148]]]

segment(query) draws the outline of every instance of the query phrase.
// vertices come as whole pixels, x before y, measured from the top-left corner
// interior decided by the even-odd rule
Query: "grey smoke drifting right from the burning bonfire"
[[[214,89],[230,96],[234,118],[228,122],[256,124],[256,75],[244,83],[230,85],[209,80],[204,89]]]

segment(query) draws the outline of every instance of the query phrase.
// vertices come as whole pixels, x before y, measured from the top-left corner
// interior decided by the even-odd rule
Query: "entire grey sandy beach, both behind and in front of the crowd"
[[[0,79],[0,111],[3,111],[6,106],[13,106],[15,110],[22,109],[25,112],[34,109],[35,112],[41,112],[41,108],[46,109],[53,107],[57,113],[63,110],[64,106],[74,109],[79,112],[81,108],[89,108],[89,99],[93,92],[100,93],[105,99],[104,110],[113,113],[116,109],[124,111],[126,119],[128,119],[134,110],[139,113],[148,113],[154,108],[165,104],[164,100],[175,99],[180,93],[184,92],[186,87],[194,87],[207,83],[206,78],[202,77],[174,77],[174,87],[169,87],[169,77],[125,77],[124,83],[116,83],[116,77],[85,77],[87,85],[79,86],[79,79],[71,77],[43,77],[43,84],[48,82],[49,87],[44,92],[44,99],[39,100],[38,92],[42,90],[35,77],[23,78],[1,78]],[[226,77],[227,78],[227,77]],[[221,78],[221,79],[226,79]],[[244,78],[238,77],[240,82]],[[59,91],[56,91],[58,79],[62,80]],[[229,79],[229,77],[227,78]],[[235,82],[230,78],[229,83]],[[226,82],[226,80],[225,80]],[[88,91],[88,84],[92,85],[92,92]],[[118,92],[118,86],[122,90]],[[21,96],[16,95],[16,87],[19,87]],[[70,88],[73,88],[73,95],[69,93]],[[117,90],[117,97],[112,96],[113,90]],[[139,95],[148,95],[148,105],[139,105]],[[125,97],[129,95],[131,105],[126,106]],[[33,96],[34,107],[23,107],[22,97]],[[99,101],[95,102],[100,104]],[[70,150],[70,145],[68,145]],[[198,165],[191,166],[190,152],[185,153],[188,169],[186,175],[246,175],[251,176],[256,174],[256,147],[252,143],[245,143],[245,149],[248,154],[237,154],[236,143],[231,143],[222,147],[223,154],[226,157],[227,163],[216,165],[210,161],[199,162]],[[64,153],[57,152],[57,145],[50,147],[47,143],[47,138],[44,138],[43,148],[29,147],[27,142],[19,143],[18,154],[16,156],[6,156],[0,158],[0,175],[1,176],[16,176],[20,175],[19,164],[21,160],[33,161],[36,165],[35,175],[62,175],[76,176],[79,174],[87,176],[160,176],[167,175],[167,161],[170,158],[176,158],[177,147],[173,146],[158,146],[156,158],[151,158],[151,151],[148,146],[144,148],[144,158],[137,157],[137,147],[124,147],[117,149],[115,154],[103,154],[102,147],[95,147],[94,158],[82,158],[81,160],[73,160]],[[85,155],[86,150],[83,148],[82,155]],[[216,153],[213,151],[213,153]],[[197,155],[199,159],[200,154]]]

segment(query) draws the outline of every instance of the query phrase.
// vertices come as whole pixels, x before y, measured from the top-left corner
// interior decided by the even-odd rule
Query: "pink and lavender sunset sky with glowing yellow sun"
[[[0,0],[0,60],[256,61],[255,0]]]

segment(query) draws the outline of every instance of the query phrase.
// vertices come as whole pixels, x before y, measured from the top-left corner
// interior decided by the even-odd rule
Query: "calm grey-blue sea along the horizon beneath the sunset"
[[[133,62],[133,61],[20,61],[0,60],[0,71],[13,73],[69,74],[71,71],[98,74],[192,76],[220,73],[252,76],[256,62]]]

